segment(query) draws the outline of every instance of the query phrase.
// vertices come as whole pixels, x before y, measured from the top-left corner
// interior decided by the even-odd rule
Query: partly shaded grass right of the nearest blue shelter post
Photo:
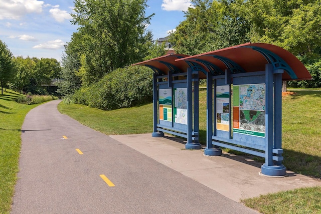
[[[321,178],[321,91],[295,91],[283,97],[283,164]]]

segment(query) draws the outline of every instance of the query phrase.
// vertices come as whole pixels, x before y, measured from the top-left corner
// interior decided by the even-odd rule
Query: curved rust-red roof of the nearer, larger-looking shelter
[[[238,46],[233,46],[217,51],[207,52],[195,56],[178,59],[177,61],[192,61],[204,60],[218,66],[221,70],[228,69],[226,64],[220,60],[220,57],[226,58],[236,65],[239,65],[245,72],[265,71],[265,64],[268,62],[266,57],[274,60],[275,66],[284,63],[286,72],[283,73],[283,80],[309,80],[310,73],[304,65],[290,52],[270,44],[264,43],[246,43]],[[276,59],[275,59],[276,58]],[[209,71],[208,69],[206,69]],[[292,71],[291,71],[292,70]],[[292,74],[291,74],[292,72]],[[292,76],[290,76],[292,75]],[[296,76],[296,77],[295,77]]]

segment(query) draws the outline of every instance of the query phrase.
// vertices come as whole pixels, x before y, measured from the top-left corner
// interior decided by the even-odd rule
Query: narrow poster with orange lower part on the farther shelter
[[[172,89],[159,89],[159,120],[172,122]]]

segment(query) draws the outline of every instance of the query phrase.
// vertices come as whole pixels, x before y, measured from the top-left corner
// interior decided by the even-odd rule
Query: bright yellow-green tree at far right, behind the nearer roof
[[[321,58],[321,1],[249,0],[245,5],[251,42],[270,43],[291,52],[313,78],[311,84],[305,80],[289,84],[320,87],[320,73],[315,68],[319,68]]]

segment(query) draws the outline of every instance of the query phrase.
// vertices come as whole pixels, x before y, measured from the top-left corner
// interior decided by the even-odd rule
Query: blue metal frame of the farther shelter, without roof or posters
[[[159,62],[165,64],[170,71],[168,75],[158,76],[153,75],[153,133],[152,137],[163,137],[164,132],[177,135],[180,137],[187,138],[187,143],[185,144],[186,149],[201,149],[201,144],[199,143],[199,69],[193,71],[192,68],[188,68],[186,73],[179,71],[178,68],[170,63]],[[183,76],[185,79],[173,80],[175,77]],[[187,79],[186,79],[187,77]],[[163,81],[167,78],[167,81]],[[194,86],[194,92],[193,92]],[[158,105],[158,91],[159,89],[171,89],[172,100],[174,101],[174,89],[175,88],[187,88],[188,96],[188,116],[187,125],[179,124],[174,122],[174,102],[172,102],[172,122],[159,120],[159,105]],[[194,95],[194,100],[193,100]],[[193,121],[194,116],[194,121]]]

